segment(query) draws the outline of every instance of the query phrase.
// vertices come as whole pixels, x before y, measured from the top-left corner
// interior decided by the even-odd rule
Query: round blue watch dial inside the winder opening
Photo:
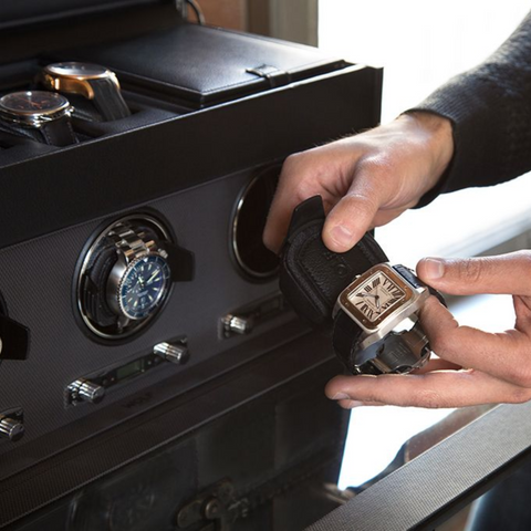
[[[160,306],[168,291],[168,263],[158,254],[147,254],[125,271],[118,288],[119,309],[128,319],[144,319]]]

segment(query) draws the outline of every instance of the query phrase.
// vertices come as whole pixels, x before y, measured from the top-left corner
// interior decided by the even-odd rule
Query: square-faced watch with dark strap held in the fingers
[[[379,263],[337,298],[333,345],[353,374],[408,373],[430,355],[417,312],[430,290],[404,266]],[[440,295],[439,295],[440,296]]]

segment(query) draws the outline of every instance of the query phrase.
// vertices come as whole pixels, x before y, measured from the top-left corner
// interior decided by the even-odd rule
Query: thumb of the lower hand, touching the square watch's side
[[[531,294],[531,254],[519,251],[497,257],[425,258],[417,274],[428,285],[454,295],[475,293]]]

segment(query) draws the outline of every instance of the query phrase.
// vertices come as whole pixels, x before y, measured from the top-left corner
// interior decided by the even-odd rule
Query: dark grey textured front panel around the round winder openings
[[[61,426],[249,341],[250,337],[242,336],[220,340],[218,321],[226,313],[278,290],[274,280],[246,281],[229,253],[232,208],[251,174],[242,171],[148,204],[153,211],[167,219],[179,244],[196,253],[196,279],[174,284],[160,317],[125,344],[108,345],[91,340],[84,325],[75,319],[73,284],[77,259],[85,242],[110,218],[0,251],[0,289],[10,316],[29,326],[32,333],[29,360],[3,363],[0,368],[0,412],[23,406],[27,424],[25,436],[19,444],[0,440],[0,477],[10,469],[3,466],[2,454],[14,449],[20,454],[23,446]],[[119,216],[121,212],[116,212],[116,217]],[[219,279],[223,279],[222,282]],[[285,316],[273,319],[260,331],[267,332],[283,321]],[[139,357],[149,353],[155,344],[179,335],[188,337],[190,361],[186,366],[163,364],[111,389],[98,405],[64,407],[63,391],[71,382]],[[124,418],[126,416],[124,412]],[[44,447],[48,445],[41,445],[37,454],[32,454],[33,458],[38,459]]]

